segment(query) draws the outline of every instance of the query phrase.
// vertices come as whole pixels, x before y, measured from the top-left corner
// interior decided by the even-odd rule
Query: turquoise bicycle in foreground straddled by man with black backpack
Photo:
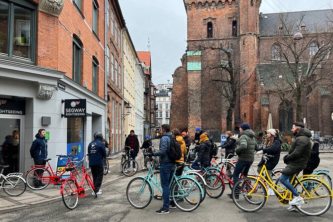
[[[176,170],[184,163],[177,164]],[[157,188],[156,195],[153,185]],[[192,176],[179,176],[175,173],[169,185],[170,200],[174,201],[176,207],[181,211],[191,212],[196,210],[204,196],[204,191],[200,184]],[[150,165],[147,176],[139,176],[132,179],[126,188],[127,201],[136,209],[147,207],[153,198],[157,199],[158,194],[162,194],[162,187],[159,178],[155,177]]]

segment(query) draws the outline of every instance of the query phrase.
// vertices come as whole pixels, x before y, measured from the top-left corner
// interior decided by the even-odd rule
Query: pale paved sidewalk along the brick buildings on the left
[[[153,144],[158,147],[159,140],[153,140]],[[139,165],[139,170],[141,170],[140,160],[143,156],[142,151],[140,150],[136,161]],[[120,172],[120,161],[121,153],[109,159],[109,173],[103,177],[102,186],[107,186],[112,181],[125,177]],[[90,173],[90,169],[87,169],[87,172]],[[23,174],[23,177],[25,175]],[[90,191],[87,191],[90,194]],[[0,214],[16,211],[22,208],[32,208],[37,204],[45,202],[57,202],[61,201],[60,195],[60,185],[49,184],[45,189],[40,191],[31,190],[28,186],[26,187],[25,192],[18,197],[11,197],[4,193],[3,190],[0,190]]]

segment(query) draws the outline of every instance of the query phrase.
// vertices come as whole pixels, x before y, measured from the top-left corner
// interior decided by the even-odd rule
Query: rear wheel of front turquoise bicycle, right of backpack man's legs
[[[203,194],[197,181],[190,178],[180,178],[171,187],[171,200],[181,211],[196,210],[201,203]]]

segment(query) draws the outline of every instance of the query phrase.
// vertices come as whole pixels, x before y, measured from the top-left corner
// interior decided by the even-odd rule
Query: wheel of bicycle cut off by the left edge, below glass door
[[[9,196],[16,197],[24,193],[26,185],[21,177],[9,176],[2,181],[2,189]]]

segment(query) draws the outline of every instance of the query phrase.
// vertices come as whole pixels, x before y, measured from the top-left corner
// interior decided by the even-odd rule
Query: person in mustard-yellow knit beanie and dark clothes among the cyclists
[[[198,159],[196,159],[191,166],[195,170],[201,170],[201,166],[208,167],[210,164],[209,153],[212,143],[207,137],[207,132],[201,134],[199,144]]]

